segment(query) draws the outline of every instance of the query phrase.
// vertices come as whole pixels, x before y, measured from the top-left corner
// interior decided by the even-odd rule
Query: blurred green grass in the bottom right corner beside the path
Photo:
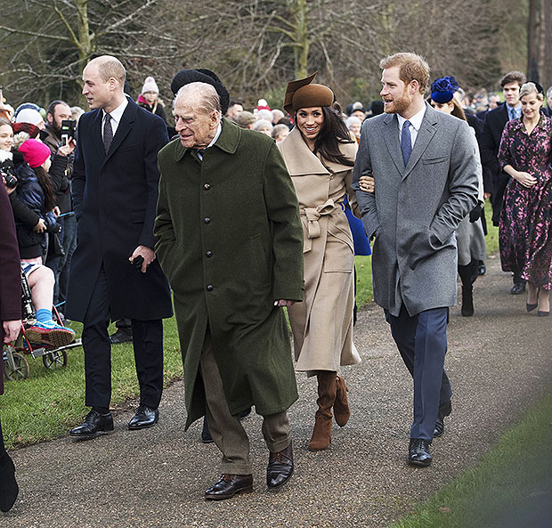
[[[414,515],[392,528],[494,528],[541,524],[552,494],[552,393]],[[539,519],[539,520],[537,520]],[[540,522],[539,522],[540,521]]]

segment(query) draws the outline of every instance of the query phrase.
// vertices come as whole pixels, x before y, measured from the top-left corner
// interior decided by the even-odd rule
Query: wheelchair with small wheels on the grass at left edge
[[[57,307],[52,307],[53,320],[61,325],[60,313]],[[4,376],[11,381],[19,381],[27,379],[30,372],[28,360],[26,356],[31,356],[34,359],[42,358],[45,369],[53,371],[62,369],[67,366],[69,361],[67,351],[71,348],[76,348],[82,345],[80,339],[76,339],[69,345],[54,346],[31,343],[25,335],[25,330],[36,323],[35,308],[32,303],[28,280],[21,270],[21,329],[20,334],[15,341],[8,345],[4,345],[3,363]],[[2,373],[0,372],[0,376]]]

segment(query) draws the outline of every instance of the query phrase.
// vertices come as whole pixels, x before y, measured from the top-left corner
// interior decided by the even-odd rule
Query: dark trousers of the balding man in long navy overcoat
[[[163,321],[132,319],[134,361],[140,385],[140,405],[157,409],[163,392]],[[110,296],[103,265],[98,274],[82,333],[85,350],[85,405],[110,407]]]

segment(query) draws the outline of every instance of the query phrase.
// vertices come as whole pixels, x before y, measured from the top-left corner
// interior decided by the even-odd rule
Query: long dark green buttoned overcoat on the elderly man
[[[186,428],[205,414],[207,325],[231,413],[287,410],[296,378],[274,300],[303,298],[303,230],[276,144],[223,119],[203,161],[177,139],[159,151],[158,167],[156,252],[174,291]]]

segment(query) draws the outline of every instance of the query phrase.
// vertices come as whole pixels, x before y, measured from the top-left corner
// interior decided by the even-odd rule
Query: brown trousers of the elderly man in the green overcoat
[[[248,434],[237,416],[232,416],[215,360],[213,340],[207,329],[199,370],[206,395],[206,417],[209,431],[216,447],[223,453],[221,473],[251,475]],[[286,449],[291,442],[291,429],[286,411],[263,417],[263,436],[269,451],[276,453]]]

